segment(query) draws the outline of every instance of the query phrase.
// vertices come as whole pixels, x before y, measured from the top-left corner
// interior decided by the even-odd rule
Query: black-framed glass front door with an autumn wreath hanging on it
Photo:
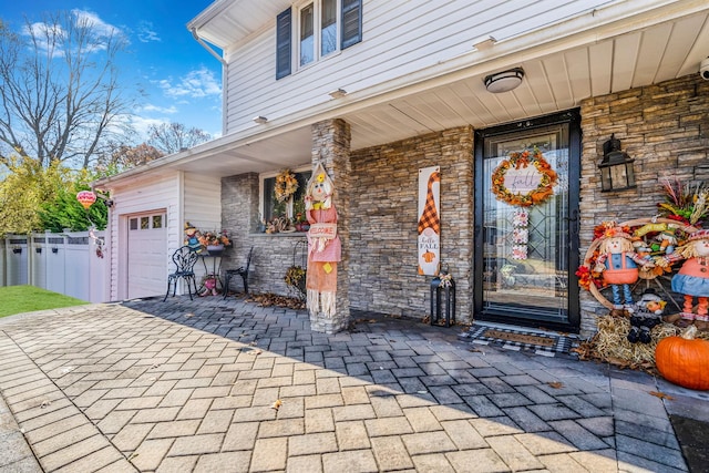
[[[475,134],[475,318],[578,331],[579,119]]]

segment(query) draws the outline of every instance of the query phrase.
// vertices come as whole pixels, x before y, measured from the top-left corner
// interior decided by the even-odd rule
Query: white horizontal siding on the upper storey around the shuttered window
[[[337,88],[352,93],[401,78],[414,80],[417,72],[470,52],[476,38],[491,34],[501,41],[614,2],[366,0],[361,43],[279,81],[274,21],[227,54],[225,132],[254,126],[256,115],[274,120],[307,111],[329,101],[327,93]]]

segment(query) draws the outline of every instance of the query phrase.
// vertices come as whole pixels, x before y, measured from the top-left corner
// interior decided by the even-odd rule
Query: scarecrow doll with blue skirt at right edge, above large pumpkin
[[[669,266],[685,258],[679,273],[672,277],[672,290],[685,295],[682,311],[668,321],[681,318],[685,325],[695,323],[698,329],[709,329],[709,230],[695,232],[687,243],[670,255],[657,259],[660,266]],[[697,298],[697,313],[693,312],[693,298]]]

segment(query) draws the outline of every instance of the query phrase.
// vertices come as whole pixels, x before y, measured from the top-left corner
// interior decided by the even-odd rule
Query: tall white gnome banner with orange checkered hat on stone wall
[[[441,167],[419,169],[419,274],[441,269]]]

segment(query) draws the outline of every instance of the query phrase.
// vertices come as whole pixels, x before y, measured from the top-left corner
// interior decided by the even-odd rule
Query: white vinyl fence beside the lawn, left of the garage
[[[89,302],[107,300],[104,236],[96,232],[8,235],[0,239],[0,286],[31,285]]]

